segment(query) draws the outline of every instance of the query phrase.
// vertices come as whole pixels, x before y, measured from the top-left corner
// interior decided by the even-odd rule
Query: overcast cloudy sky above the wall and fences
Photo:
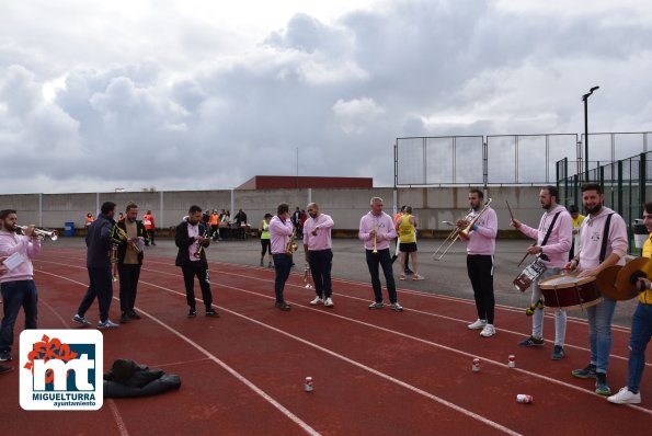
[[[8,0],[0,193],[391,186],[397,137],[581,134],[596,84],[652,130],[651,42],[641,0]]]

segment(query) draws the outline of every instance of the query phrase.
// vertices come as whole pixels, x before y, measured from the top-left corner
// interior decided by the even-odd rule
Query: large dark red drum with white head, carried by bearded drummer
[[[595,277],[556,275],[539,282],[546,310],[581,310],[603,300]]]

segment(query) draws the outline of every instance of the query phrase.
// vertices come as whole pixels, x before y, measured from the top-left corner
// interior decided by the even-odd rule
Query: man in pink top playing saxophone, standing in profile
[[[291,306],[283,297],[283,290],[293,267],[290,236],[294,231],[295,227],[289,219],[289,205],[282,203],[276,208],[276,216],[270,221],[270,238],[272,240],[274,271],[276,272],[276,278],[274,279],[275,306],[283,311],[291,309]]]

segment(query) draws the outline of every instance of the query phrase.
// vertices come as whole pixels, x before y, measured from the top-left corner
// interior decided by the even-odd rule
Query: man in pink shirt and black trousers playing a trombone
[[[493,296],[493,254],[497,234],[497,218],[490,206],[483,209],[484,194],[480,190],[469,191],[469,205],[472,213],[457,222],[465,229],[470,221],[482,214],[471,227],[468,238],[460,232],[460,239],[467,242],[467,273],[473,287],[473,298],[478,320],[468,325],[471,330],[480,330],[480,336],[490,337],[495,334],[493,315],[495,298]],[[484,211],[482,211],[484,210]]]

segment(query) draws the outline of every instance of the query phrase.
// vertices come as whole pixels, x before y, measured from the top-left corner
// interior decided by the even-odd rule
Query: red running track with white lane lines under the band
[[[88,284],[84,252],[47,248],[34,264],[39,326],[76,328],[70,318]],[[133,358],[179,374],[179,391],[110,400],[98,412],[26,412],[16,368],[0,378],[2,434],[581,435],[644,434],[652,424],[645,378],[643,404],[617,406],[594,393],[593,380],[570,376],[588,359],[580,320],[569,321],[567,358],[551,362],[551,341],[516,346],[530,330],[521,309],[497,308],[497,334],[482,339],[466,328],[474,319],[470,301],[399,290],[404,312],[371,311],[369,284],[334,279],[336,306],[316,308],[295,274],[286,286],[293,310],[282,312],[273,307],[272,271],[220,263],[210,264],[210,276],[221,317],[186,319],[180,273],[171,257],[149,255],[137,299],[144,319],[104,332],[105,369]],[[118,309],[116,300],[113,319]],[[96,305],[87,317],[96,322]],[[552,320],[546,323],[551,331]],[[628,329],[614,329],[614,390],[626,383],[628,339]],[[510,354],[517,368],[507,368]],[[480,372],[471,371],[473,357]],[[302,389],[306,376],[313,392]],[[517,393],[533,394],[534,403],[517,403]]]

